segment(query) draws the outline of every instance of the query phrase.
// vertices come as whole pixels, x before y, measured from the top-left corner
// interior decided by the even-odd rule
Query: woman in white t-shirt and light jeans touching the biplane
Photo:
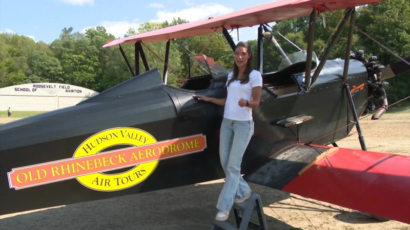
[[[233,203],[240,203],[251,196],[248,183],[240,174],[242,156],[254,131],[252,108],[259,106],[262,76],[253,70],[251,46],[238,42],[235,48],[233,72],[229,73],[227,98],[217,99],[194,95],[202,101],[225,106],[220,128],[219,156],[226,179],[218,198],[216,219],[225,221]]]

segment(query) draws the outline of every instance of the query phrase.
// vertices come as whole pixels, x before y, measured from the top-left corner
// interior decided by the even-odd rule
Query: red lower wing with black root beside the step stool
[[[243,178],[410,224],[410,156],[294,145]]]

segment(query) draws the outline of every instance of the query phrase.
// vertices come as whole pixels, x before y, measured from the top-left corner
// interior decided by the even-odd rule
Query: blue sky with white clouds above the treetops
[[[189,21],[227,14],[272,0],[20,0],[0,1],[0,32],[30,36],[46,43],[58,38],[64,27],[85,32],[86,28],[104,26],[109,33],[123,37],[129,27],[151,20]],[[239,29],[239,39],[257,38],[257,26]],[[236,31],[232,31],[235,43]]]

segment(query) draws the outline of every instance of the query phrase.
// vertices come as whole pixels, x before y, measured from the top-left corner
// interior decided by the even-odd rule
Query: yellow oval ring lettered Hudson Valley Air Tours
[[[154,144],[157,141],[148,132],[136,128],[114,128],[96,133],[85,140],[75,151],[73,158],[98,154],[109,147],[117,145],[129,145],[130,147],[144,146]],[[130,159],[125,158],[125,153],[118,153],[102,158],[95,158],[87,165],[88,169],[107,167],[109,165],[121,165],[128,163]],[[142,157],[137,154],[136,156]],[[154,172],[158,165],[158,160],[142,163],[134,166],[132,169],[116,173],[92,173],[84,176],[77,176],[76,179],[84,186],[98,191],[117,191],[127,189],[145,180]]]

